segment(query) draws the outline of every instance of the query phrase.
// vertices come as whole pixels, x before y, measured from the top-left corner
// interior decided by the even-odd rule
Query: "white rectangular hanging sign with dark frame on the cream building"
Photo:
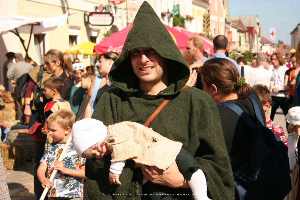
[[[93,12],[88,15],[88,22],[91,25],[109,26],[113,24],[113,14]]]

